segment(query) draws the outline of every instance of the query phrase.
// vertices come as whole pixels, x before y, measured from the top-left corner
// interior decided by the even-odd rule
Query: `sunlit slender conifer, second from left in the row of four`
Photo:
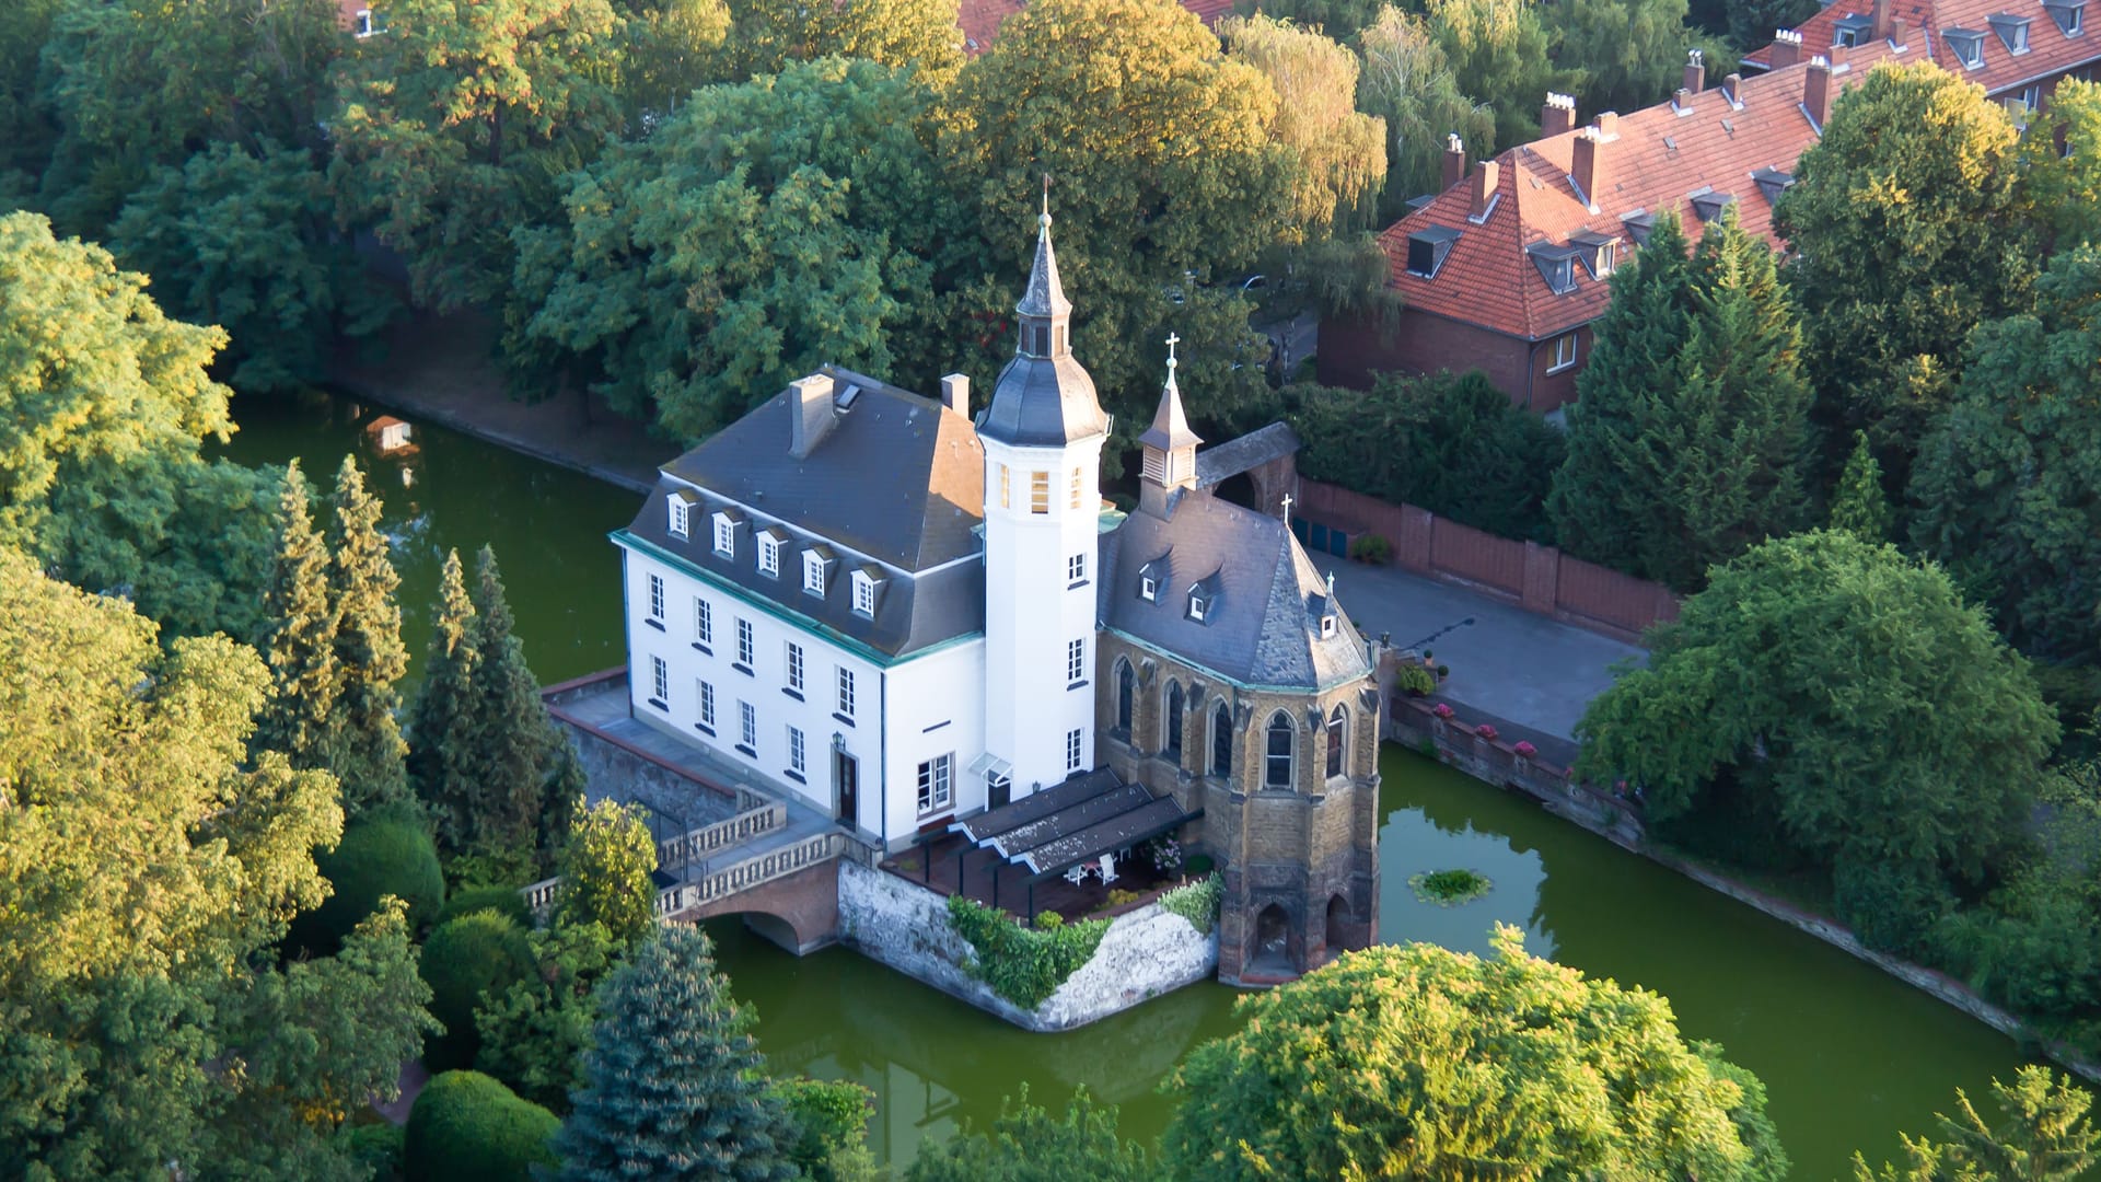
[[[401,608],[395,572],[380,532],[380,501],[366,492],[357,461],[342,456],[336,471],[336,522],[330,536],[330,591],[336,620],[336,667],[342,692],[330,719],[330,770],[342,782],[342,803],[359,812],[408,797],[401,763],[408,745],[395,711],[395,688],[408,673],[401,644]]]

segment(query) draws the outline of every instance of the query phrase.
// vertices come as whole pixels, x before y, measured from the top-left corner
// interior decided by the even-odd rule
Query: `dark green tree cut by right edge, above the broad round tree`
[[[2034,313],[1983,324],[1920,446],[1912,543],[2023,652],[2101,646],[2101,250],[2051,261]]]

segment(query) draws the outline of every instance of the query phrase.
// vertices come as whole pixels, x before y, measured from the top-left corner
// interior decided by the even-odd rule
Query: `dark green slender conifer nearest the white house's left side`
[[[555,745],[540,705],[540,681],[525,667],[525,648],[511,631],[496,551],[475,555],[475,620],[469,646],[475,652],[466,711],[454,719],[454,742],[445,745],[450,772],[471,793],[471,843],[496,850],[534,845],[544,808],[546,772]]]

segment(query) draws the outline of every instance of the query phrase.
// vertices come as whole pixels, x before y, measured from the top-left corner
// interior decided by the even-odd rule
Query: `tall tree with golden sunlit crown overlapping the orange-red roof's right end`
[[[1878,65],[1832,103],[1773,208],[1836,471],[1868,431],[1889,480],[1946,410],[1971,328],[2030,305],[2036,236],[2019,133],[1983,86]]]

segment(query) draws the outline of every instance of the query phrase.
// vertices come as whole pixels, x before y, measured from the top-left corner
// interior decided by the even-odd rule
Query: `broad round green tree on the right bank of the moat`
[[[1904,951],[2019,833],[2057,717],[1948,574],[1824,530],[1717,568],[1576,732],[1666,833],[1733,810],[1731,843],[1775,833]]]

